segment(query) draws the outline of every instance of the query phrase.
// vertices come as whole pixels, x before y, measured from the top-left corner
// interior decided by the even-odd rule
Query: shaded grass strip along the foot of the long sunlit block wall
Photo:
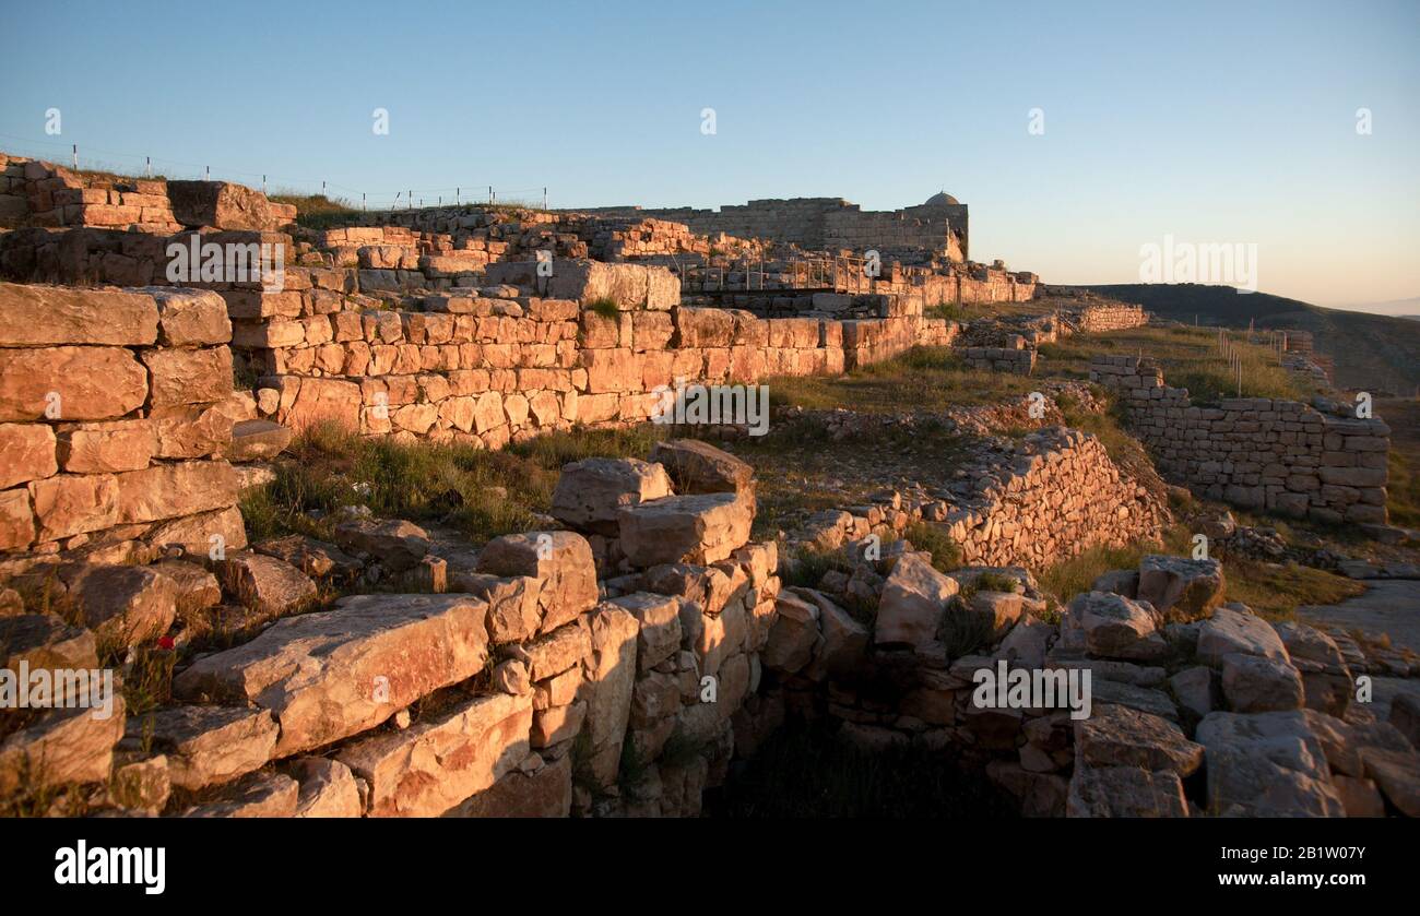
[[[663,430],[550,433],[500,452],[456,443],[400,443],[315,427],[293,443],[275,480],[241,498],[253,541],[297,533],[329,537],[329,514],[368,506],[378,517],[447,524],[477,542],[535,527],[562,466],[584,457],[645,457]],[[317,511],[322,518],[312,518]]]

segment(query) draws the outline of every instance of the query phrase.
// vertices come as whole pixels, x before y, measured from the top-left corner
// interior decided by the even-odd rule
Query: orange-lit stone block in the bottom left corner
[[[114,763],[114,746],[124,736],[124,696],[115,690],[106,719],[98,709],[62,709],[0,743],[0,794],[70,783],[104,783]]]

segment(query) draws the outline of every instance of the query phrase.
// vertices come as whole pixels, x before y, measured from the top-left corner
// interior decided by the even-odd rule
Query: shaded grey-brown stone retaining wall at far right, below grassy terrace
[[[1269,398],[1196,406],[1147,358],[1096,356],[1089,376],[1123,399],[1160,473],[1207,498],[1296,518],[1386,523],[1390,427],[1379,419]]]

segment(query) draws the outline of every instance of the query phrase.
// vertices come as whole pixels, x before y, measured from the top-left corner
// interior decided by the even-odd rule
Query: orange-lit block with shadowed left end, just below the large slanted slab
[[[271,760],[277,724],[264,709],[176,706],[128,720],[125,747],[149,744],[168,757],[173,785],[199,790],[260,770]]]

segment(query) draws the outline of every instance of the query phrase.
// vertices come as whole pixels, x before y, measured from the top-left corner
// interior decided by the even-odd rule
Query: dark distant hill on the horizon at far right
[[[1420,386],[1420,321],[1322,308],[1309,302],[1238,293],[1197,283],[1086,285],[1100,295],[1137,302],[1184,324],[1311,331],[1318,352],[1336,364],[1342,388],[1410,395]]]

